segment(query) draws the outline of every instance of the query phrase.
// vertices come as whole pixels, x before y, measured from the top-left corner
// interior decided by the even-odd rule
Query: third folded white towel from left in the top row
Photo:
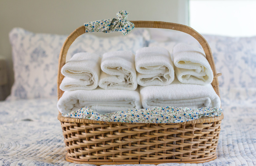
[[[168,85],[174,80],[173,62],[162,47],[143,47],[136,51],[137,83],[141,86]]]

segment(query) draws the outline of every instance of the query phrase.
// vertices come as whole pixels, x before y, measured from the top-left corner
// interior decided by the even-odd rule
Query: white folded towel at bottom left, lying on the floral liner
[[[127,109],[141,108],[139,88],[131,90],[94,90],[66,91],[57,103],[61,113],[69,113],[82,107],[89,107],[99,114],[106,114]]]

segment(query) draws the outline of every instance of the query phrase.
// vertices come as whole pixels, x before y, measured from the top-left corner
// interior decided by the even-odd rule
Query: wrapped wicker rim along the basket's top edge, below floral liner
[[[62,122],[90,123],[90,124],[117,124],[118,126],[121,123],[125,123],[125,124],[182,124],[182,125],[183,124],[196,124],[196,123],[211,123],[211,122],[223,120],[223,118],[224,118],[224,115],[223,115],[223,113],[221,113],[220,116],[203,117],[203,118],[180,122],[180,123],[132,123],[132,122],[108,122],[108,121],[99,121],[99,120],[78,119],[78,118],[63,117],[60,112],[58,114],[58,120],[62,121]]]

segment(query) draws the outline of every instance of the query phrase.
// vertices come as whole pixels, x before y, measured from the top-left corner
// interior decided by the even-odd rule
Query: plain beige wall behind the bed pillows
[[[40,33],[70,34],[85,22],[116,17],[118,10],[129,11],[129,20],[165,21],[187,25],[187,1],[0,0],[0,55],[7,60],[9,90],[13,83],[13,71],[8,33],[12,28],[21,27]]]

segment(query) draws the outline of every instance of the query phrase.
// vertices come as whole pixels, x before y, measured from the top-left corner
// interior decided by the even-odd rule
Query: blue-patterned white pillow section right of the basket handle
[[[256,36],[203,35],[214,57],[220,87],[256,87]]]

